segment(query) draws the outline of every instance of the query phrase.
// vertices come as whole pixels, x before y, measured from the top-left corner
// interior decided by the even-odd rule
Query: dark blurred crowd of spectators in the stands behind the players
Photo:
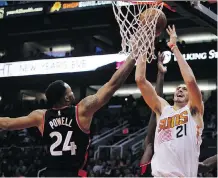
[[[171,102],[171,101],[169,101]],[[31,110],[45,108],[44,101],[24,102],[22,105],[1,105],[1,116],[21,116],[28,114]],[[23,114],[22,114],[23,113]],[[9,115],[8,115],[9,114]],[[151,111],[143,102],[143,99],[135,100],[132,96],[127,98],[113,98],[110,103],[102,108],[94,116],[91,127],[92,137],[96,137],[105,131],[122,124],[124,121],[130,123],[129,132],[147,126]],[[212,139],[216,142],[217,136],[217,108],[216,91],[205,102],[205,129],[203,139]],[[146,118],[146,119],[145,119]],[[113,144],[115,140],[107,143]],[[204,143],[204,141],[203,141]],[[94,159],[94,148],[89,150],[89,159],[86,170],[91,177],[138,177],[140,176],[139,161],[143,154],[143,148],[137,154],[131,149],[124,152],[123,158],[120,154],[105,155]],[[37,176],[39,170],[44,168],[46,148],[41,144],[40,134],[36,128],[24,129],[22,131],[0,131],[0,176],[21,177]],[[43,175],[43,171],[41,172]],[[205,177],[217,175],[216,171],[200,174]]]

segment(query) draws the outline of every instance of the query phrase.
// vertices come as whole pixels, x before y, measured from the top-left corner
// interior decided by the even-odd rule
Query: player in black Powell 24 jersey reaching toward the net
[[[89,128],[94,113],[110,100],[134,66],[135,59],[128,57],[96,94],[87,96],[76,106],[73,105],[75,97],[71,87],[63,81],[55,81],[46,90],[50,109],[35,110],[18,118],[1,117],[0,128],[37,127],[48,148],[45,176],[77,177],[87,159]]]

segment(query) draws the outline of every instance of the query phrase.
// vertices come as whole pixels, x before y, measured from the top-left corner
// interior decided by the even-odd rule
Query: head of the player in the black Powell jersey
[[[62,80],[52,82],[46,89],[45,95],[51,106],[69,106],[75,102],[71,87]]]

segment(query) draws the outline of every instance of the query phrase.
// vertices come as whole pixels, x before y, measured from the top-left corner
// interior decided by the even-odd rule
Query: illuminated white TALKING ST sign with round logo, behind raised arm
[[[176,57],[171,51],[164,51],[164,64],[167,64],[172,59],[173,61],[177,61]],[[206,60],[206,59],[217,59],[218,58],[218,52],[214,49],[210,50],[209,52],[202,52],[202,53],[187,53],[183,54],[183,57],[187,61],[193,61],[193,60]]]

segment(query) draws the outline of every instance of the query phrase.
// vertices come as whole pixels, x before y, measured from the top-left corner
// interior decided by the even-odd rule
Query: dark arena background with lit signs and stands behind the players
[[[217,3],[200,2],[202,11],[195,3],[169,1],[171,10],[163,11],[168,24],[177,28],[178,45],[204,96],[203,160],[217,153]],[[163,32],[156,39],[156,52],[165,51],[168,56],[164,97],[172,102],[172,93],[182,77],[166,46],[167,40]],[[44,90],[57,79],[71,85],[77,102],[95,93],[124,59],[117,55],[120,44],[110,1],[1,1],[1,116],[22,116],[46,108]],[[156,61],[149,64],[147,73],[155,84]],[[125,85],[94,116],[89,176],[139,176],[149,117],[150,109],[136,88],[133,71]],[[35,128],[0,131],[0,147],[0,176],[37,176],[43,168],[45,153]],[[199,176],[216,175],[214,170]]]

